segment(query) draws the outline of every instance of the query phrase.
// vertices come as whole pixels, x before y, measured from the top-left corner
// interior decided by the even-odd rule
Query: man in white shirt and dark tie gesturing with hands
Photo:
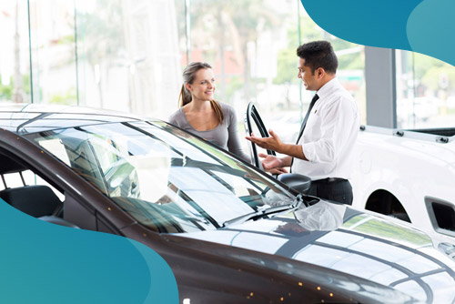
[[[354,166],[354,145],[359,134],[359,108],[336,77],[338,59],[327,41],[298,46],[298,78],[311,100],[296,145],[285,144],[269,130],[270,137],[247,137],[259,147],[287,157],[264,157],[262,166],[270,172],[291,172],[311,178],[308,195],[352,204],[348,178]]]

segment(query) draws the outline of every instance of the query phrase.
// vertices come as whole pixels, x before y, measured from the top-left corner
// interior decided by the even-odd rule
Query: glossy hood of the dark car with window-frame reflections
[[[455,299],[455,262],[433,248],[426,234],[352,208],[343,210],[344,215],[340,208],[328,211],[329,215],[323,209],[179,236],[333,269],[420,301],[451,303]],[[337,214],[343,219],[339,227],[334,226]],[[325,225],[324,220],[332,223]]]

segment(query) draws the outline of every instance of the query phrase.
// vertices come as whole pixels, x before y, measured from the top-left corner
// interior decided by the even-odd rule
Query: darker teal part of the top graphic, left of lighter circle
[[[410,50],[407,24],[423,0],[301,0],[325,31],[364,46]]]

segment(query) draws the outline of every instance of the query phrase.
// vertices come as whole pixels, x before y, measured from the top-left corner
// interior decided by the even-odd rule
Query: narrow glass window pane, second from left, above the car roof
[[[30,1],[34,103],[77,104],[74,3]]]

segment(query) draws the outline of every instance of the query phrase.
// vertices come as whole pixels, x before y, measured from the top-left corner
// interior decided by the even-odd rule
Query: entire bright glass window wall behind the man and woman
[[[0,8],[3,28],[11,29],[0,34],[0,100],[167,120],[177,109],[182,68],[206,61],[216,98],[238,111],[241,133],[254,101],[267,126],[293,141],[312,94],[298,81],[296,48],[327,39],[339,56],[339,80],[364,113],[363,46],[323,31],[298,0],[32,0]]]

